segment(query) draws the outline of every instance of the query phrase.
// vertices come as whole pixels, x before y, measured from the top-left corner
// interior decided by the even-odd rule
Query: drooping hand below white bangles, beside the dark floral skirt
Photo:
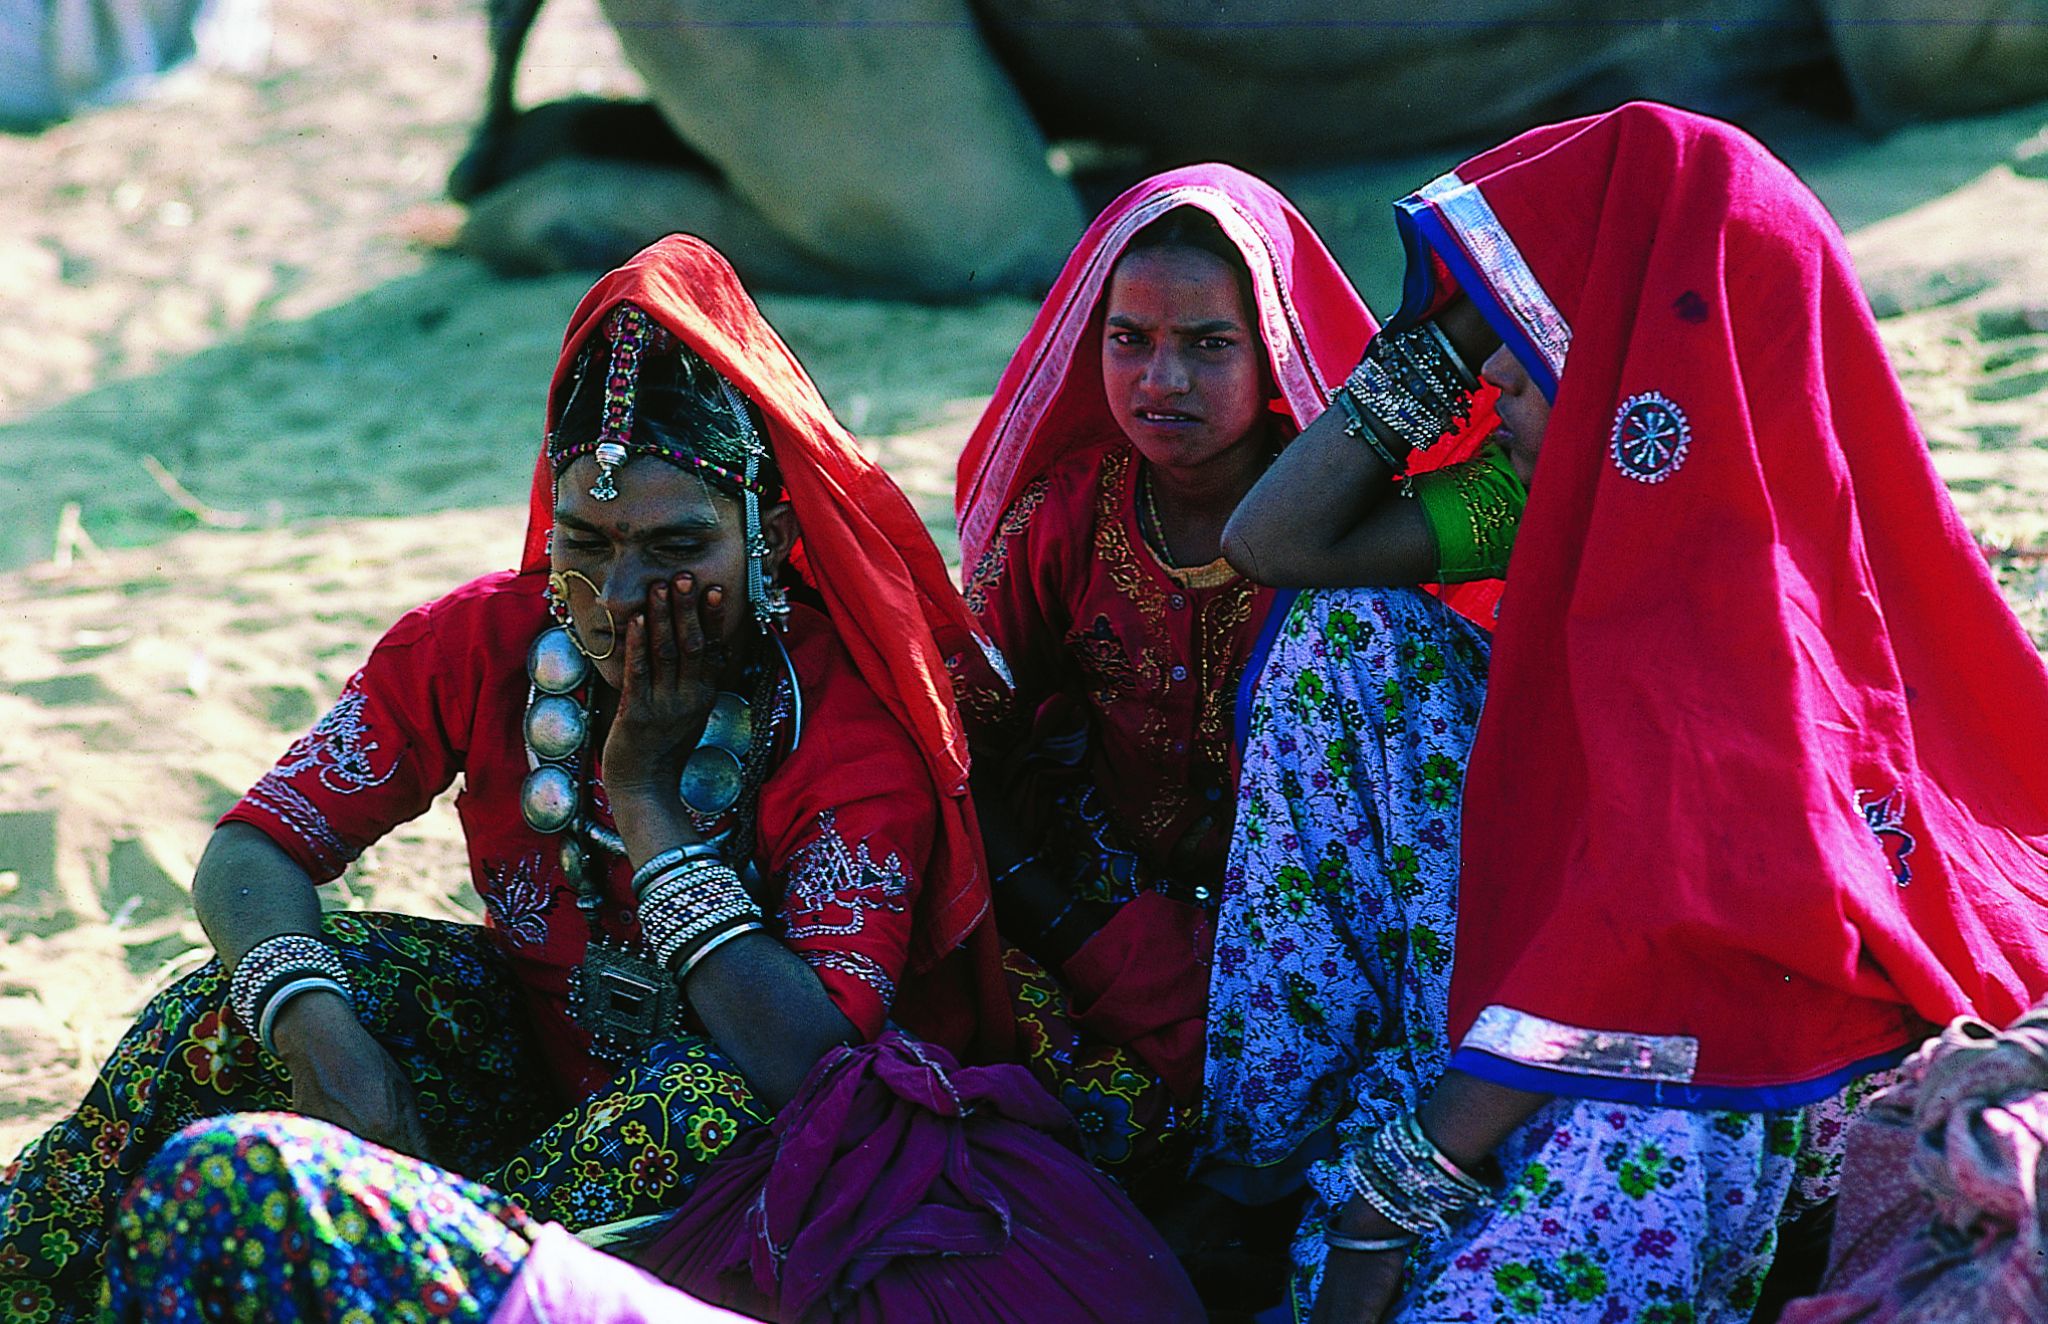
[[[291,1072],[291,1111],[348,1127],[371,1144],[432,1160],[412,1082],[330,992],[299,994],[276,1015],[276,1053]]]

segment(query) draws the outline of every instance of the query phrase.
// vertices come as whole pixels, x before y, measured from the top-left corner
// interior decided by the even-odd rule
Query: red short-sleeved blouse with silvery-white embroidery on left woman
[[[455,805],[471,881],[561,1090],[580,1099],[612,1074],[567,1012],[569,971],[592,926],[561,871],[559,838],[528,828],[518,808],[526,646],[549,625],[543,582],[492,574],[408,613],[334,709],[221,822],[256,826],[330,881],[461,775]],[[772,928],[862,1035],[895,1015],[958,1051],[973,1029],[965,957],[905,976],[936,818],[926,762],[821,613],[799,607],[782,642],[801,728],[762,787],[754,840]],[[600,933],[633,937],[625,861],[612,861],[604,898]]]

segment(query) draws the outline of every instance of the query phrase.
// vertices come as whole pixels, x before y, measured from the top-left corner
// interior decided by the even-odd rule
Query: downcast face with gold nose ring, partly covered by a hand
[[[555,482],[551,562],[569,574],[569,619],[606,685],[618,689],[627,619],[647,609],[647,588],[657,580],[688,574],[698,594],[723,588],[727,646],[754,627],[737,498],[651,455],[635,455],[612,471],[618,488],[612,500],[590,496],[596,482],[598,461],[590,455],[571,461]],[[786,502],[762,506],[762,533],[770,547],[764,570],[774,580],[797,539]]]

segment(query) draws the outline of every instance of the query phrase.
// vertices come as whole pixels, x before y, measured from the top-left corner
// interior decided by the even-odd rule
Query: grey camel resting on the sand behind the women
[[[1083,203],[1186,160],[1343,164],[1636,96],[1716,113],[1790,96],[1878,129],[2048,96],[2048,0],[1937,18],[1925,0],[1366,16],[1346,0],[823,0],[793,18],[602,0],[653,105],[520,113],[539,6],[492,0],[489,102],[451,180],[467,250],[553,271],[690,230],[768,289],[922,299],[1042,291]]]

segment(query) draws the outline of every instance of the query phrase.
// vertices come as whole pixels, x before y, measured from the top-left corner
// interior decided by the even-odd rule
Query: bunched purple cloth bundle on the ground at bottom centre
[[[889,1033],[827,1053],[635,1258],[770,1320],[1200,1320],[1122,1191],[1055,1140],[1024,1068]]]

